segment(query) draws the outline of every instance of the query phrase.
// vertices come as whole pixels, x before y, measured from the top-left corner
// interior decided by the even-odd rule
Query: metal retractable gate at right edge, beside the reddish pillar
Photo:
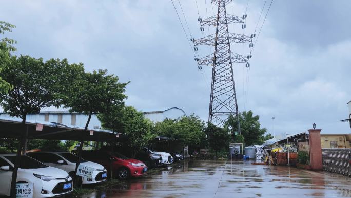
[[[351,176],[351,149],[322,149],[323,170]]]

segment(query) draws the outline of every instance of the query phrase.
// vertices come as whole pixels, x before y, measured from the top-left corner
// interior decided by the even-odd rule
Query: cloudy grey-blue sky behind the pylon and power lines
[[[193,37],[202,37],[196,2],[180,2]],[[202,19],[206,6],[208,16],[214,15],[209,0],[197,2]],[[236,0],[227,12],[242,16],[246,3]],[[263,4],[249,1],[245,34],[255,30]],[[108,69],[121,82],[131,81],[128,105],[144,111],[180,107],[208,119],[211,68],[203,67],[204,76],[199,72],[170,0],[3,0],[0,9],[0,21],[17,26],[7,34],[17,40],[17,54],[68,58],[83,62],[87,71]],[[351,100],[349,10],[347,0],[274,1],[252,53],[248,86],[245,65],[234,65],[239,111],[260,115],[269,132],[275,116],[276,133],[302,132],[314,122],[324,133],[349,133],[348,123],[338,122],[348,118]],[[243,33],[240,25],[229,28]],[[248,44],[232,49],[249,51]],[[209,52],[199,47],[200,56]]]

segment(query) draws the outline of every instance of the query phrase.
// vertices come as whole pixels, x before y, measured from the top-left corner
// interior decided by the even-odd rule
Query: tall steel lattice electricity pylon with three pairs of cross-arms
[[[249,67],[249,59],[251,55],[243,56],[233,53],[230,50],[231,43],[250,43],[249,47],[253,47],[252,38],[250,36],[228,32],[228,24],[239,23],[242,28],[246,28],[244,14],[242,17],[227,14],[226,5],[232,0],[211,0],[211,3],[218,7],[217,15],[208,19],[198,21],[201,24],[201,31],[205,31],[205,25],[216,26],[216,33],[210,34],[201,39],[191,39],[194,44],[194,50],[198,50],[196,46],[212,45],[214,53],[203,58],[196,58],[199,65],[212,66],[211,96],[209,103],[208,122],[218,127],[222,127],[228,120],[229,116],[239,114],[237,95],[235,91],[235,82],[233,76],[233,63],[246,63]],[[200,67],[201,68],[201,67]],[[240,130],[238,116],[238,130]]]

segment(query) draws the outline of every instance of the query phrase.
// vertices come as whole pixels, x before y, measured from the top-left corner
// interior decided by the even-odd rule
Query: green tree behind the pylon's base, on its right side
[[[253,116],[252,111],[239,113],[241,134],[244,136],[246,145],[260,144],[261,136],[267,132],[266,128],[261,129],[260,116]],[[233,131],[238,131],[237,116],[230,116],[227,123]]]

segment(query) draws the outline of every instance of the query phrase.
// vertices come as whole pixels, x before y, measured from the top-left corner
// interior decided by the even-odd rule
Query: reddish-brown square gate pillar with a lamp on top
[[[312,170],[323,170],[321,129],[309,129],[309,158]]]

